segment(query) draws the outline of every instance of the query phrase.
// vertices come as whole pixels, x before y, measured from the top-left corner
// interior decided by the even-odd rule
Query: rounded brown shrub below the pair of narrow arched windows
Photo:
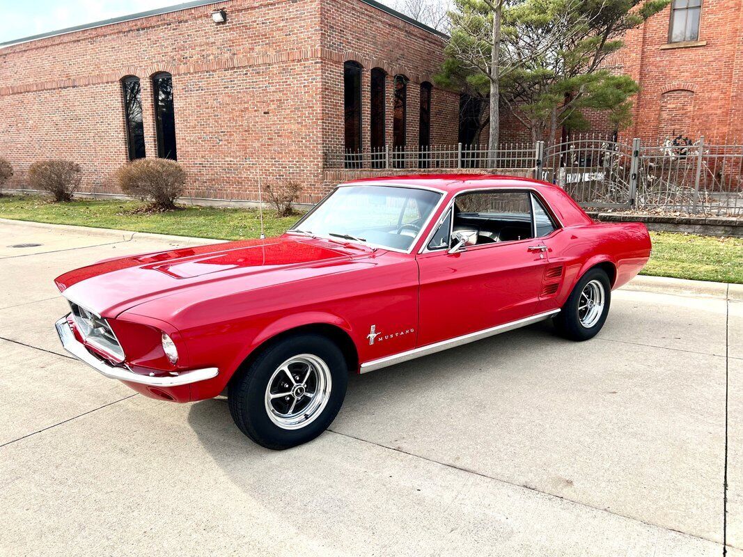
[[[149,200],[151,208],[175,209],[186,183],[186,171],[175,160],[137,159],[117,170],[114,181],[126,194]]]

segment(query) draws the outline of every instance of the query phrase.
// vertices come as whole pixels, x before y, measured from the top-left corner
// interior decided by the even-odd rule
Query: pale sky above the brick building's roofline
[[[0,0],[0,42],[100,22],[186,0]],[[392,5],[395,0],[382,0]]]

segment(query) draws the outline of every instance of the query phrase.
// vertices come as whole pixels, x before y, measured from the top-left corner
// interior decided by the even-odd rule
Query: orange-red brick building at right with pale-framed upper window
[[[673,0],[625,43],[617,69],[641,88],[625,135],[743,141],[743,1]]]

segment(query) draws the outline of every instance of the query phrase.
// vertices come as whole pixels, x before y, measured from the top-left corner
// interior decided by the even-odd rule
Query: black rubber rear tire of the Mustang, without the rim
[[[591,284],[589,290],[597,289],[595,282],[600,283],[603,287],[603,310],[600,315],[594,316],[593,319],[584,319],[588,322],[587,326],[581,321],[581,314],[579,314],[579,306],[581,305],[581,293]],[[585,302],[585,299],[584,299]],[[591,269],[588,273],[585,273],[578,284],[575,285],[570,296],[568,296],[567,302],[562,306],[560,313],[554,318],[554,324],[557,328],[557,332],[564,336],[566,339],[583,341],[592,339],[603,327],[606,322],[606,316],[609,315],[609,306],[611,305],[611,284],[609,284],[609,276],[606,275],[606,271],[602,269]],[[581,310],[585,312],[585,309]],[[585,313],[583,314],[585,315]]]

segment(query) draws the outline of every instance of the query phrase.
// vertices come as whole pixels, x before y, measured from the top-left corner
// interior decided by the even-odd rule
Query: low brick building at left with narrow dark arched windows
[[[227,0],[0,45],[8,187],[65,158],[117,193],[118,166],[160,156],[194,198],[256,200],[261,177],[317,201],[328,152],[457,142],[458,96],[431,85],[444,41],[374,0]]]

